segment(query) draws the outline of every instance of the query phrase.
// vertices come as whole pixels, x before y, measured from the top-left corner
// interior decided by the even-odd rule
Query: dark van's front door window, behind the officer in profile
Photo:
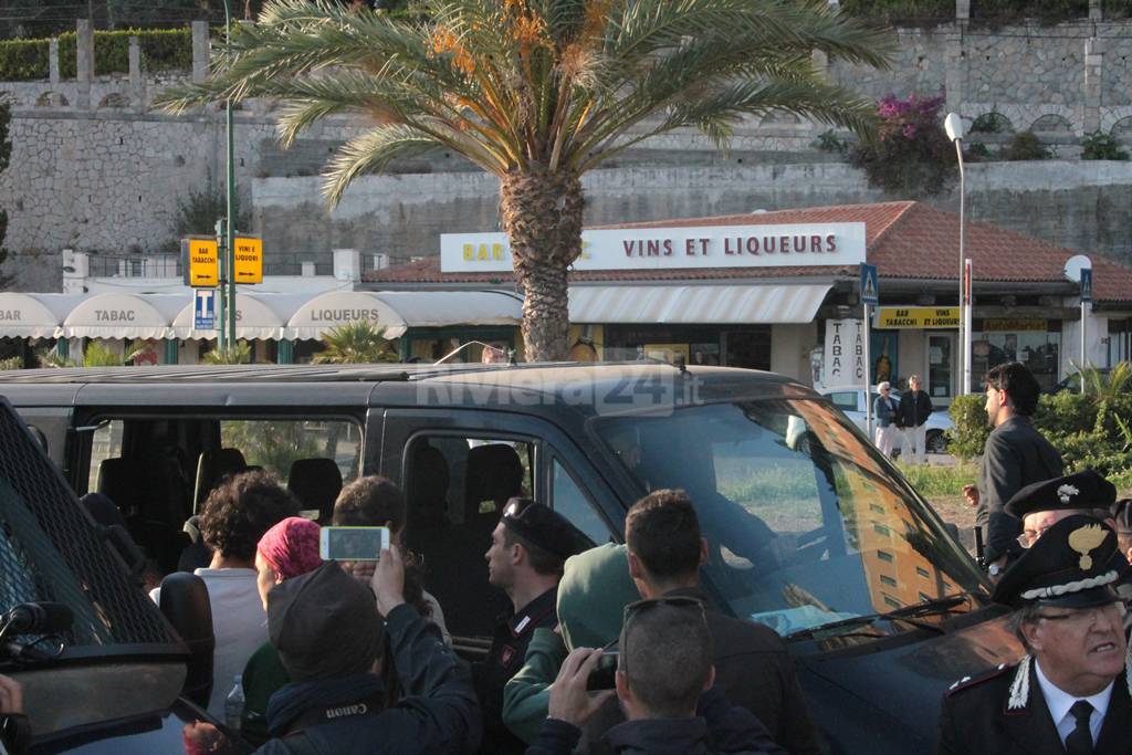
[[[534,444],[514,439],[430,435],[405,448],[405,542],[453,636],[490,636],[507,608],[484,554],[507,499],[534,489],[533,462]]]

